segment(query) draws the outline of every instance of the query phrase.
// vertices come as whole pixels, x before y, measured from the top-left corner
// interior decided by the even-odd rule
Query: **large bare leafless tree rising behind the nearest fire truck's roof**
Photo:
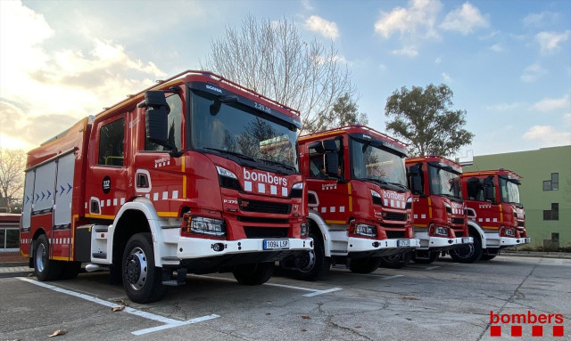
[[[316,39],[303,42],[293,21],[258,23],[248,15],[241,31],[226,28],[224,37],[211,41],[201,68],[299,110],[302,132],[310,133],[321,129],[319,113],[331,112],[338,98],[355,92],[339,61],[333,43],[326,49]]]

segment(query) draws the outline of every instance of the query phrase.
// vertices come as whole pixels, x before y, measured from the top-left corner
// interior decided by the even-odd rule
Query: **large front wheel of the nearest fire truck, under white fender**
[[[165,296],[161,268],[154,266],[151,233],[137,233],[128,240],[121,264],[123,288],[131,301],[145,304]]]

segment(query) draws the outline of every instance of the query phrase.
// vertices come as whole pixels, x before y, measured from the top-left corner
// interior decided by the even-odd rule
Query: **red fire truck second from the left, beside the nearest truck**
[[[382,256],[418,247],[404,144],[366,126],[343,126],[302,136],[299,145],[314,250],[298,259],[296,277],[316,280],[331,264],[373,272]]]

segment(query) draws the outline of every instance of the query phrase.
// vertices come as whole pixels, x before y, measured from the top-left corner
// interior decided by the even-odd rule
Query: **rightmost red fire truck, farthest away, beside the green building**
[[[519,202],[520,176],[505,169],[460,175],[468,207],[468,230],[474,244],[451,250],[461,263],[490,260],[501,248],[530,242],[525,231],[525,211]]]

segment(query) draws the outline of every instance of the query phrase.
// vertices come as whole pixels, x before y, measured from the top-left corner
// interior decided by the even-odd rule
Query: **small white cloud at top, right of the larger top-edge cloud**
[[[483,16],[474,5],[465,3],[462,7],[446,14],[446,18],[440,28],[449,31],[457,31],[466,36],[476,30],[476,28],[487,28],[490,26],[488,16]]]

